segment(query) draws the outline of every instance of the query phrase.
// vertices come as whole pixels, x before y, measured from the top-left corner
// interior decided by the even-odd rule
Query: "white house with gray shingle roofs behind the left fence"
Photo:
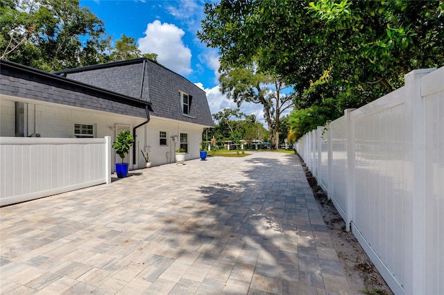
[[[145,58],[54,73],[0,62],[0,136],[114,141],[129,129],[136,143],[128,162],[142,168],[140,150],[153,166],[173,163],[180,147],[198,158],[203,128],[213,126],[205,91]]]

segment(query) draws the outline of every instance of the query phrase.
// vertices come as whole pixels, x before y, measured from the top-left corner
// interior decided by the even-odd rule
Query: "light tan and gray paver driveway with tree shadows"
[[[296,155],[186,164],[1,208],[1,294],[350,293]]]

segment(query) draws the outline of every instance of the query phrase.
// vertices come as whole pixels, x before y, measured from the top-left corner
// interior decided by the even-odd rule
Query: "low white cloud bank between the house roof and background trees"
[[[228,100],[227,96],[223,95],[220,91],[219,85],[212,88],[204,88],[202,83],[195,83],[197,87],[203,89],[207,93],[208,105],[210,105],[211,114],[216,114],[225,108],[237,109],[236,103],[232,100]],[[239,108],[241,112],[256,116],[257,121],[265,124],[264,120],[264,108],[262,105],[255,104],[253,102],[246,102]]]

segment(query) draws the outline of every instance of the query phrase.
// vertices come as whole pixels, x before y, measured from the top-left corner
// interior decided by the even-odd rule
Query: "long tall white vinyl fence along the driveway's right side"
[[[444,67],[295,148],[395,294],[444,294]]]

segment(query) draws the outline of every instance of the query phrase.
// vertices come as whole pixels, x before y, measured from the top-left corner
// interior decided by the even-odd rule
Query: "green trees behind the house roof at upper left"
[[[122,35],[112,46],[105,26],[78,0],[3,0],[0,57],[44,71],[102,64],[135,57],[156,61]]]

